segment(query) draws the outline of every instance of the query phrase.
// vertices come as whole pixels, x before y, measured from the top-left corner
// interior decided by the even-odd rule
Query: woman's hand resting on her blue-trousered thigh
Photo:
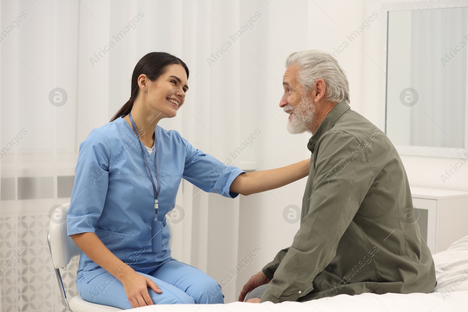
[[[160,294],[162,290],[149,277],[143,276],[135,271],[130,271],[123,277],[119,278],[124,285],[125,293],[133,308],[139,306],[154,305],[153,300],[149,296],[148,287]]]

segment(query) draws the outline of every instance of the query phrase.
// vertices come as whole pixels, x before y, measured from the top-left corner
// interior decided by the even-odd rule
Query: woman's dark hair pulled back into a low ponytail
[[[138,77],[141,74],[145,74],[151,81],[156,81],[159,76],[161,76],[165,71],[168,65],[171,64],[180,64],[185,69],[187,73],[187,78],[189,78],[189,68],[185,63],[176,56],[166,53],[166,52],[150,52],[142,57],[137,65],[135,65],[135,69],[133,69],[132,74],[132,92],[130,99],[122,106],[121,109],[115,114],[110,121],[114,121],[120,116],[125,116],[130,113],[133,107],[133,102],[138,97],[139,94],[139,86],[138,86]]]

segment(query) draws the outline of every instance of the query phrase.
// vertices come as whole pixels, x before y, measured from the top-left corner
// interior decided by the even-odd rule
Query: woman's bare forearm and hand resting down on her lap
[[[148,287],[160,294],[162,290],[158,285],[117,258],[94,232],[73,234],[70,237],[89,259],[115,276],[124,285],[125,293],[133,308],[154,304],[149,296]]]

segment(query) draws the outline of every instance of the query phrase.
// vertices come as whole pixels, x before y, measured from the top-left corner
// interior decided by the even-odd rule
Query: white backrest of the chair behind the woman
[[[80,248],[67,235],[66,213],[69,206],[70,203],[60,206],[51,216],[49,237],[54,268],[66,268],[70,259],[81,253]]]

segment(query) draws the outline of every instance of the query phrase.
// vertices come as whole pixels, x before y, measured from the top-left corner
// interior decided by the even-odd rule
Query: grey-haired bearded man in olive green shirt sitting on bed
[[[429,293],[431,252],[412,218],[402,160],[385,133],[349,107],[348,80],[317,50],[286,60],[288,131],[311,132],[310,173],[291,247],[244,285],[239,301],[307,301],[364,292]]]

